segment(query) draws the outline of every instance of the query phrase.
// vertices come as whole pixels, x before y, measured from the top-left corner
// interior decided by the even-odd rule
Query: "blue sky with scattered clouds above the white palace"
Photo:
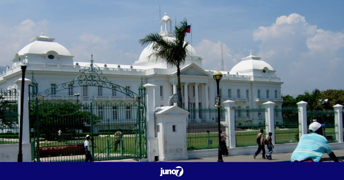
[[[159,12],[160,7],[160,12]],[[283,95],[319,88],[343,88],[344,1],[306,0],[2,0],[0,65],[29,40],[56,38],[74,61],[132,64],[143,47],[138,40],[160,31],[167,12],[173,23],[185,17],[204,69],[225,71],[252,52],[282,77]],[[191,41],[192,40],[192,41]]]

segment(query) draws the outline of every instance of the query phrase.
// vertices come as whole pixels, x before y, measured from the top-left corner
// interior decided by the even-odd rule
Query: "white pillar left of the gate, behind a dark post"
[[[22,135],[22,144],[29,144],[30,143],[30,125],[29,125],[29,84],[31,80],[25,78],[24,87],[21,86],[22,79],[15,81],[14,83],[17,84],[18,87],[18,114],[20,115],[20,106],[23,103],[23,135]],[[21,91],[24,90],[24,102],[21,102]],[[18,122],[20,120],[20,116],[18,116]],[[19,127],[20,128],[20,127]],[[25,152],[26,153],[26,152]]]

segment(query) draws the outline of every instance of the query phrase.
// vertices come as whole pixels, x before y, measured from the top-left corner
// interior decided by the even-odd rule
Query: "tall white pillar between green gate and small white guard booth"
[[[146,88],[146,108],[147,108],[147,158],[148,161],[154,161],[154,156],[159,156],[158,138],[155,137],[155,120],[154,120],[154,88],[153,84],[145,84]],[[160,98],[159,98],[160,99]]]

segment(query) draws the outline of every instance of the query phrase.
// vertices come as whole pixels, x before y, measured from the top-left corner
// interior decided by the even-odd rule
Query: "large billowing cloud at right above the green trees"
[[[259,27],[253,40],[260,41],[258,55],[282,77],[282,94],[343,88],[344,34],[307,23],[299,14],[278,17],[268,27]],[[335,65],[334,65],[335,64]]]

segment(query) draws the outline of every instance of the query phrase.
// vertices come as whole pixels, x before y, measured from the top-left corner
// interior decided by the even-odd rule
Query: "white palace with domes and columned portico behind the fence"
[[[169,30],[168,30],[169,29]],[[174,38],[172,20],[165,15],[160,21],[160,35]],[[54,42],[54,38],[44,36],[30,40],[31,43],[14,55],[12,67],[0,74],[0,89],[2,91],[17,91],[14,83],[21,79],[21,65],[25,64],[26,79],[38,83],[38,92],[52,86],[69,82],[80,74],[80,71],[90,62],[75,62],[73,55],[62,45]],[[213,61],[197,56],[197,52],[189,45],[189,56],[181,67],[181,84],[184,108],[213,107],[216,98],[216,81],[213,73],[216,70],[206,70],[202,61]],[[148,60],[151,54],[150,46],[143,49],[139,59],[133,64],[97,63],[107,80],[138,92],[141,83],[153,84],[155,88],[155,107],[169,106],[169,97],[176,93],[176,68],[167,68],[166,64]],[[250,54],[236,64],[230,71],[221,71],[222,80],[219,83],[221,101],[235,101],[238,108],[260,108],[267,101],[272,101],[281,107],[281,77],[260,57]],[[80,94],[75,96],[74,94]],[[133,100],[126,95],[99,87],[69,87],[44,98],[45,100],[73,101],[79,103],[94,102],[127,102]]]

